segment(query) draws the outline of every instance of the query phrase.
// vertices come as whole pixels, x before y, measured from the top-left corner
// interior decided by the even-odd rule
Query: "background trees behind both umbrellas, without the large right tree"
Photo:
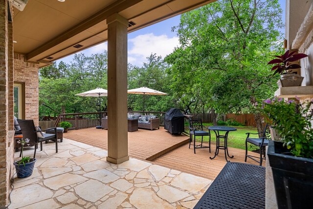
[[[107,89],[108,55],[104,53],[86,57],[76,54],[71,64],[60,62],[40,69],[40,116],[57,116],[60,113],[95,112],[99,110],[98,100],[93,97],[79,97],[75,94],[102,87]],[[166,74],[168,65],[160,56],[151,54],[142,67],[129,64],[128,89],[146,86],[163,92],[170,92],[170,78]],[[128,108],[141,111],[142,95],[129,95]],[[107,98],[101,97],[101,110],[107,111]],[[146,111],[167,111],[173,107],[171,96],[146,95]]]

